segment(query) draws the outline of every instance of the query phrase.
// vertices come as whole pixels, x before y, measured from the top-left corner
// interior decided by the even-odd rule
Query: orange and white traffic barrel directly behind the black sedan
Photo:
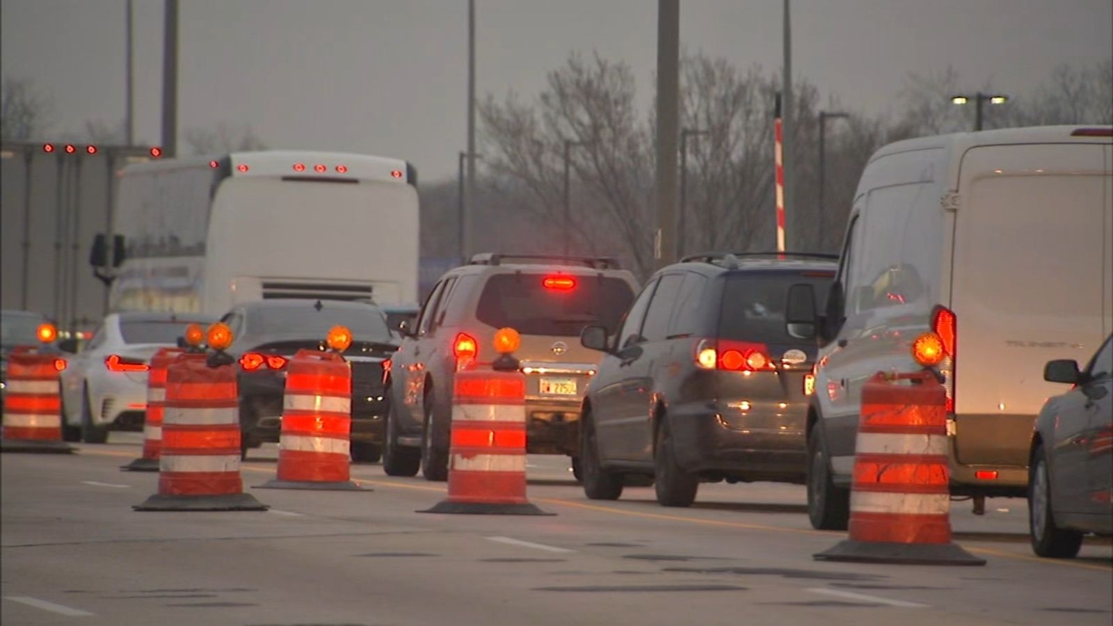
[[[349,473],[352,369],[337,352],[299,350],[287,366],[278,473],[262,488],[358,489]]]

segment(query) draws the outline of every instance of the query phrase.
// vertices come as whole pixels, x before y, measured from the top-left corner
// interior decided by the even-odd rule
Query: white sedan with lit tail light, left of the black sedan
[[[175,346],[189,323],[215,319],[173,313],[112,313],[62,370],[62,436],[104,443],[109,428],[139,429],[147,417],[147,371],[160,348]]]

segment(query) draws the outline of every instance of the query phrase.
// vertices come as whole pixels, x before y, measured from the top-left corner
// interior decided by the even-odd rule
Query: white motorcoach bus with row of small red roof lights
[[[416,170],[404,160],[268,150],[136,164],[120,176],[112,311],[417,302]],[[95,266],[109,264],[107,247],[93,246]]]

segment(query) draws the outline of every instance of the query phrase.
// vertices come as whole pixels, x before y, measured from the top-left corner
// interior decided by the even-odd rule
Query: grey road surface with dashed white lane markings
[[[652,488],[585,499],[565,459],[531,456],[544,517],[415,512],[444,483],[353,466],[368,491],[263,490],[266,512],[137,512],[157,473],[118,468],[134,433],[71,456],[0,456],[0,622],[9,625],[1101,624],[1113,548],[1031,552],[1024,500],[956,502],[956,541],[984,567],[820,563],[799,486],[705,485],[690,509]]]

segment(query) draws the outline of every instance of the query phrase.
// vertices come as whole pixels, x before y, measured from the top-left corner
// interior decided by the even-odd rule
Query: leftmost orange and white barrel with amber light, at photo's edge
[[[50,339],[57,336],[53,326],[40,326],[43,338],[49,326]],[[62,441],[62,414],[58,372],[66,360],[58,354],[43,354],[30,346],[18,346],[8,355],[8,379],[4,382],[3,436],[0,452],[69,453],[73,448]]]

